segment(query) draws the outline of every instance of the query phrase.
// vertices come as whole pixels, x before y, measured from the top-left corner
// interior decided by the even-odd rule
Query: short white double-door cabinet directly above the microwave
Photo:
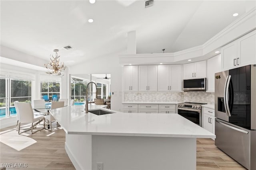
[[[206,61],[183,65],[184,79],[206,78]]]

